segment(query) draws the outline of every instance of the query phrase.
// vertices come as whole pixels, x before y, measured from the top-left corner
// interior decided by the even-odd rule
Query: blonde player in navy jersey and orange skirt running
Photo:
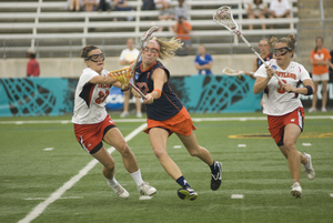
[[[181,48],[179,39],[165,41],[153,38],[149,40],[142,52],[142,61],[134,68],[134,82],[145,94],[147,123],[144,131],[149,134],[154,154],[167,173],[176,181],[181,189],[178,190],[180,199],[195,200],[198,193],[184,179],[179,166],[167,152],[168,138],[175,133],[192,156],[206,163],[212,173],[211,189],[218,190],[222,182],[222,164],[215,162],[211,153],[196,142],[192,119],[170,87],[169,70],[158,61],[158,58],[172,58],[174,51]],[[135,97],[141,97],[132,91]]]

